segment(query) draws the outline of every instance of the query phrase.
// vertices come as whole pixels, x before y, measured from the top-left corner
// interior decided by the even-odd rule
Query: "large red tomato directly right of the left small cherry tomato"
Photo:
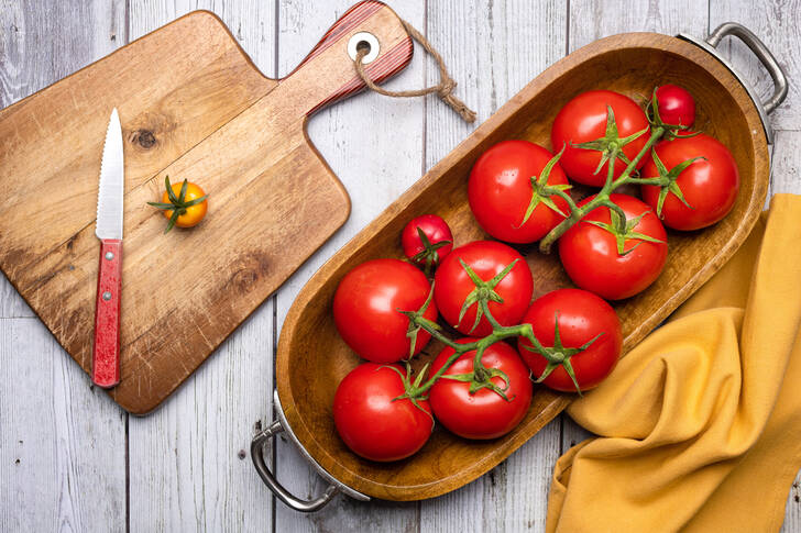
[[[494,291],[503,303],[490,301],[489,309],[501,325],[515,325],[528,308],[534,292],[534,279],[526,260],[515,249],[495,241],[474,241],[460,246],[445,258],[434,278],[434,298],[445,320],[465,335],[486,336],[492,325],[486,317],[475,323],[478,303],[473,303],[459,320],[459,313],[468,296],[475,290],[475,284],[459,259],[462,259],[482,281],[490,281],[515,259],[517,263],[501,279]]]

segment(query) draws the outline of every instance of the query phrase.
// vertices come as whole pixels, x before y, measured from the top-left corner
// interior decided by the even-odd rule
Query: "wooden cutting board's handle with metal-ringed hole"
[[[365,71],[376,84],[396,75],[412,60],[414,45],[401,19],[377,0],[359,2],[322,36],[317,46],[282,84],[304,87],[306,114],[364,90],[355,70],[355,54],[369,46]]]

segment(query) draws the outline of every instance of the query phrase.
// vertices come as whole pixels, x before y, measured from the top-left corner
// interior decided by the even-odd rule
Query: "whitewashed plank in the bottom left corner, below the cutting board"
[[[36,319],[0,319],[0,530],[124,531],[124,413]]]

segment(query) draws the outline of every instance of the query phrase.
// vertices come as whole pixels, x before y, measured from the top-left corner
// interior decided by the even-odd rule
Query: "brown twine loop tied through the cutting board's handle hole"
[[[453,78],[450,77],[448,74],[448,68],[445,66],[445,60],[442,59],[442,56],[439,55],[439,53],[431,46],[431,43],[428,42],[428,40],[418,32],[412,24],[406,22],[405,20],[401,20],[401,23],[406,29],[406,32],[420,43],[420,46],[428,52],[431,57],[437,62],[437,66],[439,67],[439,84],[426,87],[423,89],[413,89],[413,90],[405,90],[405,91],[391,91],[382,88],[377,84],[375,84],[370,77],[367,76],[364,64],[362,63],[362,59],[364,59],[364,56],[370,53],[370,49],[361,48],[356,52],[356,58],[353,60],[356,73],[359,74],[359,77],[362,78],[362,81],[364,81],[364,85],[366,85],[371,90],[377,92],[378,95],[384,95],[392,98],[409,98],[409,97],[421,97],[425,95],[431,95],[437,93],[437,96],[448,106],[453,109],[465,121],[465,122],[474,122],[475,121],[475,111],[468,108],[468,106],[461,101],[459,98],[453,96],[453,89],[457,87],[457,82],[453,80]]]

